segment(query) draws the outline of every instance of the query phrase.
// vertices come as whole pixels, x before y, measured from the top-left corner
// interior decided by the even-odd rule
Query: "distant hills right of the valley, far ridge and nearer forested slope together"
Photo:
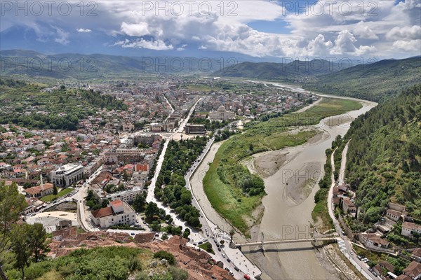
[[[378,101],[421,83],[421,57],[384,59],[346,68],[317,59],[288,64],[243,62],[215,71],[213,75],[293,81],[316,92]]]

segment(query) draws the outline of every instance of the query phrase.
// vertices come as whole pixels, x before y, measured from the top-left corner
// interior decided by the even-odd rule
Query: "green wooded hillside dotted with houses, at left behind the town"
[[[46,90],[45,85],[0,79],[0,123],[22,127],[76,130],[79,120],[98,109],[124,110],[126,104],[93,90]]]

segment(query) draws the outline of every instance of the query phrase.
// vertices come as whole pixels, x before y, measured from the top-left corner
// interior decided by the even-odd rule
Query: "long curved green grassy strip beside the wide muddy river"
[[[256,122],[248,125],[246,132],[229,138],[218,150],[215,160],[210,165],[203,178],[203,188],[218,213],[229,223],[248,236],[250,223],[255,223],[253,211],[260,205],[265,193],[248,195],[241,188],[236,188],[235,181],[248,174],[235,174],[241,170],[239,163],[244,158],[262,151],[279,150],[287,146],[298,146],[316,135],[316,130],[305,130],[297,133],[288,132],[292,127],[315,125],[328,116],[335,116],[347,111],[360,109],[361,104],[344,99],[323,99],[319,104],[302,113],[290,113],[279,118],[272,118],[266,122]],[[228,170],[225,174],[229,179],[225,183],[218,174],[220,169]],[[220,172],[221,173],[221,172]],[[227,183],[229,181],[229,183]]]

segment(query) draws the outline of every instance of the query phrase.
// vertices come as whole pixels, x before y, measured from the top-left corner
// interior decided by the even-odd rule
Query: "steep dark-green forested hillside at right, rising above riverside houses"
[[[346,177],[366,224],[375,223],[390,200],[421,219],[420,94],[415,85],[381,102],[352,123],[342,142],[351,139]]]

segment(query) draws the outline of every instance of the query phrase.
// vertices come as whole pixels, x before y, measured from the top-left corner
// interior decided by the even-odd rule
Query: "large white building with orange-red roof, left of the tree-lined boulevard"
[[[91,211],[91,219],[100,228],[121,224],[133,225],[136,222],[136,213],[127,202],[114,200],[109,202],[108,207]]]

